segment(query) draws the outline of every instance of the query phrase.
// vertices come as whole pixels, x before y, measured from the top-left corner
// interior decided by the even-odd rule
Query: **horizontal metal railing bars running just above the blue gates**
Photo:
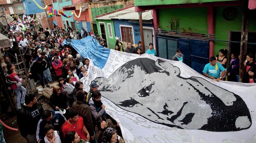
[[[215,34],[202,34],[202,33],[188,33],[181,31],[167,31],[162,29],[155,29],[157,35],[183,37],[190,39],[212,40],[215,39]]]

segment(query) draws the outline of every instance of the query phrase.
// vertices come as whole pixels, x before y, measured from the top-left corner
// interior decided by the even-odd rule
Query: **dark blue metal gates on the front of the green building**
[[[184,63],[202,74],[204,65],[209,63],[209,41],[157,36],[159,57],[172,60],[177,48],[180,48],[185,56]]]

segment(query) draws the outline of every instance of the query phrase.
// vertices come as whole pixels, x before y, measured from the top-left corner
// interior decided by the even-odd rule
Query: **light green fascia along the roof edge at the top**
[[[209,3],[234,0],[134,0],[135,6],[172,5],[184,3]]]

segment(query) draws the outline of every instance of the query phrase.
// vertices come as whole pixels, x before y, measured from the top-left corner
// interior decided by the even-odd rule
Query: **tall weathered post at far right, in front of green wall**
[[[243,15],[242,15],[242,28],[241,28],[241,45],[240,45],[240,67],[239,67],[239,82],[242,82],[246,71],[244,70],[244,61],[247,54],[247,42],[248,42],[248,0],[244,0],[243,3]]]

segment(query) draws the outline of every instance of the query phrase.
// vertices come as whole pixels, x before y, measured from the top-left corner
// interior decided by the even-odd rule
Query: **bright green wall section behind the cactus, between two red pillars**
[[[171,30],[171,17],[180,19],[179,28],[191,28],[195,33],[207,33],[207,8],[170,8],[158,10],[159,25],[163,30]]]

